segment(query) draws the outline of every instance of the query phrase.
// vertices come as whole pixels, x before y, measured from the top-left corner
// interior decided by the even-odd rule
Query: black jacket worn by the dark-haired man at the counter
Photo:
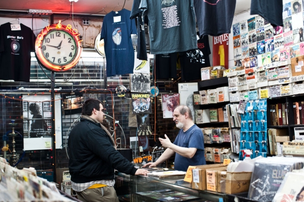
[[[68,145],[69,171],[73,182],[113,180],[114,168],[135,175],[137,169],[115,150],[112,140],[99,123],[81,118],[69,135]]]

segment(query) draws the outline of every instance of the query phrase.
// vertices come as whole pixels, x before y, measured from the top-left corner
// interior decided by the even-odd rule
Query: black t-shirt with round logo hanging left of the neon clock
[[[34,52],[33,31],[20,24],[21,30],[11,30],[11,23],[0,26],[0,79],[29,82],[30,52]]]

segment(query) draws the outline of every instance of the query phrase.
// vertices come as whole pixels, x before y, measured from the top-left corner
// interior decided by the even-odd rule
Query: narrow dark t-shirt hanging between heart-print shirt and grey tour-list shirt
[[[145,37],[145,22],[143,11],[138,9],[141,0],[134,0],[131,10],[130,19],[137,17],[137,55],[136,58],[139,60],[148,60],[147,56],[147,46],[146,46],[146,37]]]

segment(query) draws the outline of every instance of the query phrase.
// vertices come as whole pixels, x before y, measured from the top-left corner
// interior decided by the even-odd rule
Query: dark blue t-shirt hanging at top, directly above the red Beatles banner
[[[194,0],[200,36],[230,33],[236,0]]]

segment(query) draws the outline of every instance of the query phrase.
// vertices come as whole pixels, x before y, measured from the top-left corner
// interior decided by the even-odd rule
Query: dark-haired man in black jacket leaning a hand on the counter
[[[119,202],[114,190],[114,168],[130,175],[146,175],[117,150],[114,139],[101,125],[103,105],[88,99],[82,106],[80,122],[69,135],[69,171],[78,199],[90,202]]]

